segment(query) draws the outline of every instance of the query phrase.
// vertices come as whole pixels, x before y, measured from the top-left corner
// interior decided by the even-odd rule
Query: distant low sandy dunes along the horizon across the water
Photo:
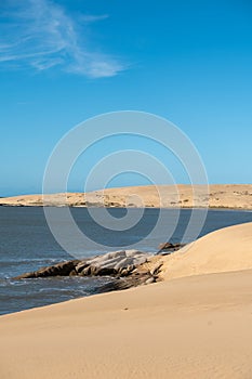
[[[195,193],[194,193],[195,191]],[[146,185],[122,188],[107,188],[92,193],[68,193],[47,195],[24,195],[0,198],[0,205],[72,207],[165,207],[165,208],[236,208],[252,209],[252,184],[214,184],[209,188],[190,185]]]

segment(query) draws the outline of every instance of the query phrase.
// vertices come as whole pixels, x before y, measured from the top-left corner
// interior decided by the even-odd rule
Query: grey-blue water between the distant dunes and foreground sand
[[[58,225],[62,225],[63,210],[57,208],[55,212]],[[101,210],[97,209],[96,212]],[[116,219],[120,219],[125,214],[125,209],[110,209],[109,212]],[[82,257],[127,248],[134,243],[138,243],[142,250],[151,252],[157,251],[158,245],[167,240],[165,228],[160,228],[154,237],[148,238],[156,224],[158,209],[146,209],[143,219],[135,227],[114,233],[97,226],[85,208],[74,208],[71,213],[79,228],[89,238],[105,245],[97,250],[92,244],[87,244],[81,247]],[[178,224],[172,236],[173,241],[182,239],[189,217],[190,210],[181,210]],[[174,210],[165,210],[165,218],[169,228],[175,219]],[[200,236],[224,226],[251,221],[252,212],[210,210]],[[64,227],[67,228],[67,225]],[[80,251],[75,238],[70,243],[74,247],[76,245],[77,251]],[[0,207],[0,314],[89,296],[108,280],[108,278],[81,277],[12,279],[18,274],[68,259],[72,257],[55,241],[47,225],[42,208]]]

